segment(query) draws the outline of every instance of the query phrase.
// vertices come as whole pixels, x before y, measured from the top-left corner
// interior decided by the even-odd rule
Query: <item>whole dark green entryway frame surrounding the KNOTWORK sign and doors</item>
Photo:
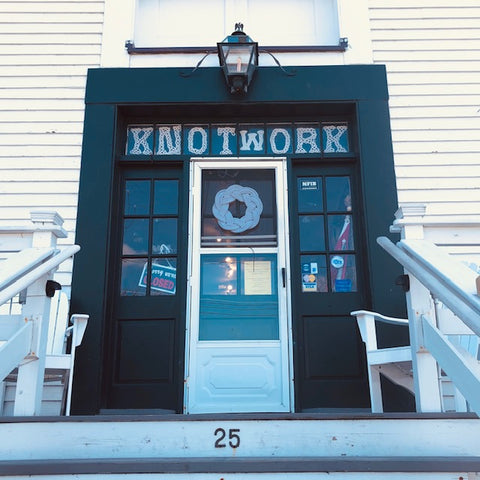
[[[404,296],[395,286],[399,267],[377,245],[388,235],[397,208],[386,72],[381,65],[297,67],[294,76],[278,68],[259,68],[248,94],[230,95],[220,68],[203,68],[185,76],[185,69],[93,69],[88,73],[80,175],[71,309],[90,315],[77,350],[73,412],[100,411],[104,362],[104,319],[107,315],[108,265],[112,245],[112,215],[116,206],[116,155],[124,148],[118,135],[125,112],[131,117],[172,115],[188,120],[199,111],[265,118],[307,112],[349,112],[357,125],[363,224],[370,295],[365,305],[384,314],[404,314]],[[173,116],[176,116],[175,118]],[[283,117],[285,120],[286,117]],[[388,338],[388,336],[392,338]],[[395,343],[397,332],[385,337]]]

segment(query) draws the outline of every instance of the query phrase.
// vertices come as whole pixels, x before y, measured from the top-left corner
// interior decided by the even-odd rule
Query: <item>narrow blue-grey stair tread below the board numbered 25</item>
[[[204,457],[0,461],[0,475],[89,473],[471,472],[480,457]]]

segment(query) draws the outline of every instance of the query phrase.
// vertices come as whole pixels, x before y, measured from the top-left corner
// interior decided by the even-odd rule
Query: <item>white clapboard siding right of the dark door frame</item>
[[[399,202],[478,216],[480,2],[368,1],[373,60],[387,67]]]

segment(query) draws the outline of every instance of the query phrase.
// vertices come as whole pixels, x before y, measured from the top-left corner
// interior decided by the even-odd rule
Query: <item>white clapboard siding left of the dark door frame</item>
[[[103,0],[0,0],[0,223],[56,210],[75,238],[88,68],[100,65]],[[56,277],[69,285],[72,262]]]

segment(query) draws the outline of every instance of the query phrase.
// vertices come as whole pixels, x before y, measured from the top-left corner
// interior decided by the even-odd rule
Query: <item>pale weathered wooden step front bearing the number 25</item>
[[[163,415],[0,419],[0,461],[479,458],[465,415]]]

